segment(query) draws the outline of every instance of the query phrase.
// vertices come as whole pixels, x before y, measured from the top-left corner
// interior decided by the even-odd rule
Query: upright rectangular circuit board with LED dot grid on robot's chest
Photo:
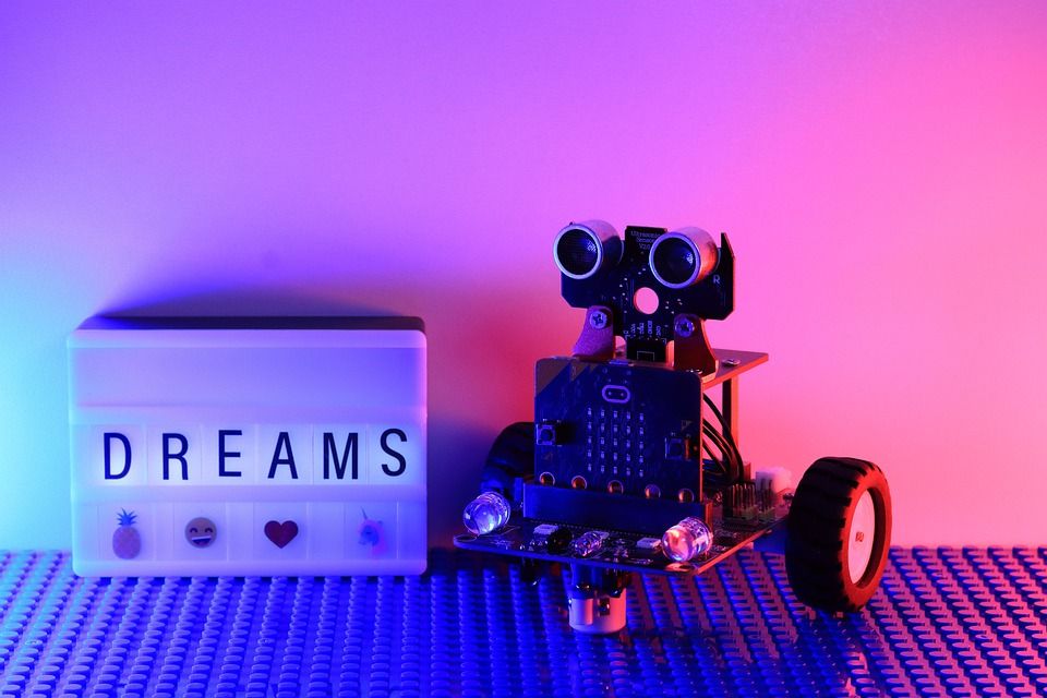
[[[534,478],[570,488],[677,500],[700,494],[701,377],[629,361],[542,359],[537,365]],[[544,428],[544,433],[543,433]]]

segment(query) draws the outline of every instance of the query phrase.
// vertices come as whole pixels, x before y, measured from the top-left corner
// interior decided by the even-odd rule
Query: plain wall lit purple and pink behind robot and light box
[[[446,543],[582,317],[570,219],[726,230],[757,464],[1047,541],[1047,5],[0,4],[0,547],[68,546],[104,310],[418,314]]]

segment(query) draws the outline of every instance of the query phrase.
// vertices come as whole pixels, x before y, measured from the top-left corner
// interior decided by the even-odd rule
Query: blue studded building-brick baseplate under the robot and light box
[[[0,553],[0,695],[1045,695],[1047,547],[894,549],[864,612],[780,556],[634,577],[628,627],[567,625],[567,576],[433,553],[422,577],[76,577]]]

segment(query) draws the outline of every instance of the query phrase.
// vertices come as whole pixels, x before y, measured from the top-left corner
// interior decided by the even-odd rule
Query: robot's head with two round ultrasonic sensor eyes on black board
[[[723,320],[734,310],[734,253],[700,228],[629,226],[623,240],[611,224],[566,226],[553,243],[564,300],[607,308],[614,335],[630,359],[664,361],[681,315]]]

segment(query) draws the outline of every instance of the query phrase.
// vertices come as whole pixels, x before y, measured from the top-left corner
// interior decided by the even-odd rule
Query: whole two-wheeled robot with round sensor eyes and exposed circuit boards
[[[531,574],[571,570],[570,626],[625,627],[631,574],[698,575],[784,538],[796,597],[861,610],[879,587],[891,495],[867,460],[816,460],[793,488],[738,447],[738,381],[766,353],[713,349],[734,310],[734,253],[705,230],[573,222],[553,244],[562,294],[586,310],[571,356],[540,359],[534,419],[507,426],[466,506],[462,549]],[[714,398],[719,398],[719,400]]]

